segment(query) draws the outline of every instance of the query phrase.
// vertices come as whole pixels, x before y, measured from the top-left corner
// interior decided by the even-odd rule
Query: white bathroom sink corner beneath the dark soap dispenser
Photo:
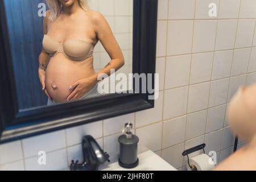
[[[165,160],[156,155],[155,152],[148,150],[146,147],[138,147],[138,158],[139,165],[132,169],[122,168],[118,164],[118,155],[110,154],[110,163],[105,163],[100,166],[102,171],[177,171],[176,168],[172,167]]]

